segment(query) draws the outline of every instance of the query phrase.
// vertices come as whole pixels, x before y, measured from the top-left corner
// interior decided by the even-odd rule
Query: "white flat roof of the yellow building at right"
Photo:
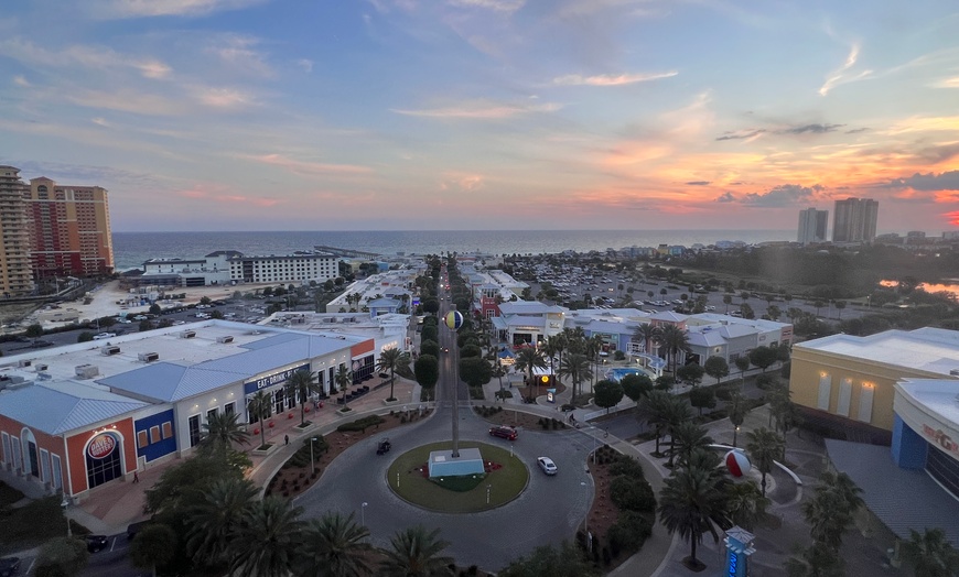
[[[868,337],[832,335],[795,347],[944,375],[959,369],[959,331],[940,328],[886,330]]]

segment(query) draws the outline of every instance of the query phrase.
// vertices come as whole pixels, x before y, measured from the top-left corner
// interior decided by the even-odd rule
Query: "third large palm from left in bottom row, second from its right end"
[[[364,577],[371,575],[367,563],[373,545],[366,543],[369,530],[344,516],[327,512],[311,519],[301,532],[303,543],[294,567],[297,575],[322,577]]]

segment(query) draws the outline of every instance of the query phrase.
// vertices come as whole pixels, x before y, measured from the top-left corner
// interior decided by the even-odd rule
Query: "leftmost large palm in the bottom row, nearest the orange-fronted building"
[[[249,512],[259,489],[248,479],[219,479],[203,493],[203,501],[190,514],[186,551],[206,565],[229,560],[233,533]]]

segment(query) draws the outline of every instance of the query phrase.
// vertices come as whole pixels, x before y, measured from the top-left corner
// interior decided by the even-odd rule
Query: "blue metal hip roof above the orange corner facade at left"
[[[116,418],[144,406],[147,403],[77,383],[33,384],[0,394],[0,414],[51,435]]]

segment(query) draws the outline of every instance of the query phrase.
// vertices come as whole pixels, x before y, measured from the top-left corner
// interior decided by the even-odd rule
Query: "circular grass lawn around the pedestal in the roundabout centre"
[[[430,481],[419,469],[427,466],[430,451],[452,449],[452,442],[423,445],[403,453],[390,465],[387,482],[401,499],[423,509],[443,513],[475,513],[504,505],[513,501],[529,483],[529,469],[519,459],[510,457],[509,451],[493,445],[475,442],[461,442],[460,448],[478,448],[483,460],[502,465],[491,471],[486,479],[475,488],[456,492]],[[397,487],[399,475],[399,487]],[[486,503],[486,487],[489,489],[489,504]]]

